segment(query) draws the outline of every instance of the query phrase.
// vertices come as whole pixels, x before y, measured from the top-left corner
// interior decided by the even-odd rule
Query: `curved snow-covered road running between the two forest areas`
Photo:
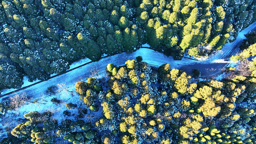
[[[16,93],[1,97],[0,100],[7,99],[9,96],[23,92],[26,92],[28,96],[32,97],[42,96],[44,95],[47,88],[51,85],[64,84],[64,87],[70,86],[72,88],[76,82],[85,80],[86,77],[89,77],[89,73],[92,68],[98,69],[98,71],[104,75],[104,73],[106,73],[105,69],[108,63],[120,66],[123,65],[126,60],[134,60],[137,56],[142,56],[143,61],[155,66],[170,63],[171,68],[183,70],[188,74],[192,74],[192,69],[199,69],[202,76],[216,75],[220,72],[221,68],[226,67],[230,63],[228,58],[239,51],[238,47],[245,38],[244,34],[247,34],[249,31],[255,29],[256,22],[249,25],[242,32],[240,32],[234,42],[226,44],[225,47],[222,48],[217,54],[204,61],[196,61],[185,58],[182,60],[173,60],[172,57],[167,57],[164,54],[152,49],[140,48],[131,54],[121,53],[111,57],[102,58],[96,62],[90,62],[82,67],[75,69],[75,71],[66,72],[53,77],[48,81],[43,81],[39,84],[28,86],[22,90],[17,90]]]

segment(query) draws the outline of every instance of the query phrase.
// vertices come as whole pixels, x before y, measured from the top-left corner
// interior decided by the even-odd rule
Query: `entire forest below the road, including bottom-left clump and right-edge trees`
[[[63,117],[77,108],[75,120],[58,123],[50,111],[29,112],[0,144],[256,144],[255,36],[246,35],[231,58],[237,66],[227,67],[221,81],[202,81],[197,70],[190,76],[170,64],[156,69],[140,56],[109,63],[107,79],[74,85],[80,102],[67,101]],[[1,102],[0,114],[14,106]],[[85,122],[84,108],[101,116]]]

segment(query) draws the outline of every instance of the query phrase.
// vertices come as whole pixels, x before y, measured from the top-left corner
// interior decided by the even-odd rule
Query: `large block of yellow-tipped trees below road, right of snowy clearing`
[[[124,66],[108,64],[106,72],[110,89],[98,93],[104,116],[95,123],[104,133],[103,144],[255,141],[255,107],[242,104],[255,99],[255,86],[248,90],[254,84],[251,78],[195,84],[191,76],[171,69],[169,64],[152,72],[140,57],[126,61]]]

